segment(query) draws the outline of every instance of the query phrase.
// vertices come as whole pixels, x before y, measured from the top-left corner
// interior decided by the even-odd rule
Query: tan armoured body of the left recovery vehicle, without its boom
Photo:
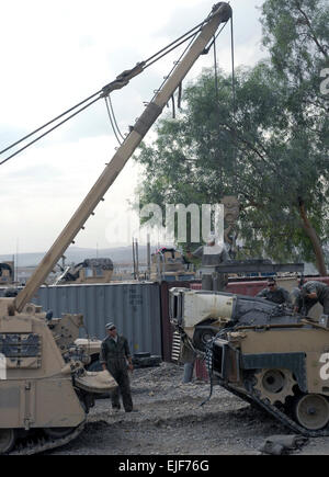
[[[107,372],[88,373],[61,350],[44,315],[33,305],[15,314],[11,298],[0,300],[0,454],[69,442],[82,431],[94,395],[116,386]]]

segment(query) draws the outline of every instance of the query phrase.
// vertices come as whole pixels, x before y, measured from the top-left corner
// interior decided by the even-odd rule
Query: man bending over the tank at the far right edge
[[[306,282],[304,285],[299,283],[294,310],[307,316],[310,308],[318,302],[324,307],[324,315],[329,315],[329,286],[316,281]]]

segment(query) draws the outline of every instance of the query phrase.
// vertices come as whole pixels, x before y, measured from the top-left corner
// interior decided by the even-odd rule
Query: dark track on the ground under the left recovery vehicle
[[[81,434],[84,429],[86,422],[82,422],[75,431],[72,431],[69,435],[60,439],[50,439],[47,436],[37,438],[34,440],[23,440],[22,443],[15,445],[15,447],[9,452],[7,455],[33,455],[41,454],[45,451],[52,451],[53,448],[61,447],[63,445],[68,444],[73,441]]]

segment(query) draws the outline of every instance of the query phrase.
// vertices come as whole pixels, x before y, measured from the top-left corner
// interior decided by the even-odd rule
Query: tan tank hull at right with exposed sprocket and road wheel
[[[329,435],[329,330],[306,320],[215,338],[207,359],[222,386],[254,401],[293,432]]]

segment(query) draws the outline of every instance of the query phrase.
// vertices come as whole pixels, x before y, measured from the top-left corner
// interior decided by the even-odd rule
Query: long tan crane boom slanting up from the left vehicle
[[[209,41],[216,33],[220,23],[227,22],[231,18],[231,8],[226,2],[216,3],[212,13],[205,21],[200,34],[192,43],[191,47],[177,65],[172,75],[167,79],[163,87],[159,90],[156,98],[150,102],[141,116],[137,120],[133,130],[113,156],[95,184],[92,186],[81,205],[70,218],[61,234],[58,236],[49,251],[43,258],[39,265],[34,271],[26,286],[19,293],[15,299],[16,311],[22,311],[24,306],[33,298],[39,286],[45,282],[60,257],[68,246],[73,241],[79,230],[83,227],[87,219],[93,214],[97,205],[102,201],[109,188],[113,184],[127,160],[132,157],[147,132],[161,114],[179,84],[188,75],[196,59],[204,52]]]

